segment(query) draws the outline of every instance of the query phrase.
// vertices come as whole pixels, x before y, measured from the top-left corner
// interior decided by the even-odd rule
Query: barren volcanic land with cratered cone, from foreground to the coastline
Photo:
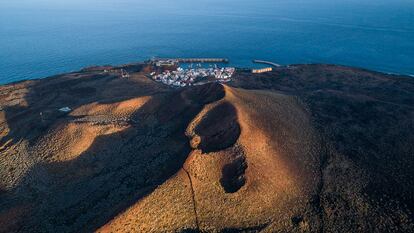
[[[171,89],[123,68],[0,87],[0,232],[413,230],[411,79],[300,65]]]

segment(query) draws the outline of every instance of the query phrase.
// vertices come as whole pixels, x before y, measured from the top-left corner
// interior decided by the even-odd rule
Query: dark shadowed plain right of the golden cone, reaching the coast
[[[314,64],[254,76],[239,72],[230,85],[299,97],[335,152],[368,174],[364,195],[374,205],[398,200],[392,206],[414,216],[413,78]],[[336,201],[336,206],[344,202]]]

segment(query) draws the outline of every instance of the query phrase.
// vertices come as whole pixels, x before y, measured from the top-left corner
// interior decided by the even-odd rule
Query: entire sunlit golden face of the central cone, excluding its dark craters
[[[316,194],[319,158],[318,141],[305,110],[289,96],[230,87],[225,90],[225,98],[206,105],[186,134],[196,148],[203,140],[195,132],[200,122],[215,107],[230,103],[237,110],[241,127],[236,144],[207,154],[193,150],[176,176],[101,232],[173,232],[184,228],[215,232],[252,226],[294,230],[291,219],[295,216],[304,218],[299,229],[309,229],[307,221],[315,213],[304,215],[307,202]],[[222,119],[215,119],[218,125]],[[238,191],[227,193],[221,184],[223,168],[241,157],[247,163],[246,183]],[[191,182],[184,179],[185,173]],[[182,203],[187,203],[185,208]],[[187,224],[188,219],[192,225]]]

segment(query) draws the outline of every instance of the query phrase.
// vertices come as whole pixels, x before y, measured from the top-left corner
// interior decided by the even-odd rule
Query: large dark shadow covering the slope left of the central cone
[[[54,113],[40,119],[37,114],[43,108],[76,108],[148,95],[153,98],[131,117],[132,127],[98,137],[76,159],[32,167],[14,190],[2,195],[0,222],[8,221],[8,212],[15,206],[32,208],[18,222],[3,225],[0,232],[96,230],[182,167],[190,152],[185,136],[188,124],[205,104],[224,97],[224,88],[218,84],[166,91],[158,84],[121,82],[111,76],[87,79],[49,80],[48,85],[32,87],[28,108],[5,110],[10,116],[10,134],[2,142],[28,140],[34,145],[48,127],[68,121],[68,116]]]

